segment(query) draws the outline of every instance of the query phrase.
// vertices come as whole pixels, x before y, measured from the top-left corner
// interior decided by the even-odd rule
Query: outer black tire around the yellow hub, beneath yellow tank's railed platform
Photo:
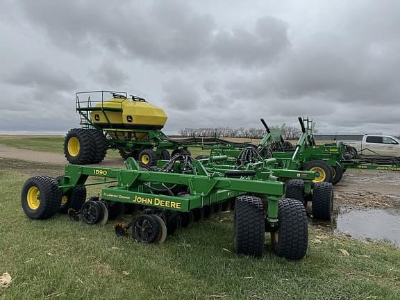
[[[79,141],[79,151],[76,156],[72,156],[68,151],[68,142],[71,138]],[[96,144],[91,131],[83,128],[74,128],[68,131],[64,139],[64,154],[68,162],[72,165],[84,165],[93,163]]]

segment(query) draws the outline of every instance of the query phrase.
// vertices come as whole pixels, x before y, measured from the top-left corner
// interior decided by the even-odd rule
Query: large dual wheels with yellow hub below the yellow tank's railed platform
[[[75,128],[65,136],[65,158],[73,165],[100,163],[107,149],[106,135],[98,129]]]

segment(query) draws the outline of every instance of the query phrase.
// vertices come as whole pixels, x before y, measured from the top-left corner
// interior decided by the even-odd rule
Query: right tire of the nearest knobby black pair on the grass
[[[271,233],[274,253],[290,260],[303,258],[308,247],[308,222],[303,203],[296,199],[280,199],[278,220],[278,230]]]

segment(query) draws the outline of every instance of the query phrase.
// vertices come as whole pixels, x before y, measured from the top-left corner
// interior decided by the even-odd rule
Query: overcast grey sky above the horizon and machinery
[[[400,133],[399,0],[1,0],[0,49],[0,132],[65,132],[75,92],[126,90],[167,133]]]

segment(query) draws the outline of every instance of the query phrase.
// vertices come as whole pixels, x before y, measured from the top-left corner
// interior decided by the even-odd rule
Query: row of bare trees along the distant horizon
[[[272,131],[278,129],[278,126],[270,126]],[[213,137],[218,138],[256,138],[260,139],[267,133],[264,128],[230,128],[230,127],[201,127],[201,128],[183,128],[178,134],[184,137]],[[282,135],[285,140],[297,140],[301,134],[299,128],[293,126],[285,126]]]

